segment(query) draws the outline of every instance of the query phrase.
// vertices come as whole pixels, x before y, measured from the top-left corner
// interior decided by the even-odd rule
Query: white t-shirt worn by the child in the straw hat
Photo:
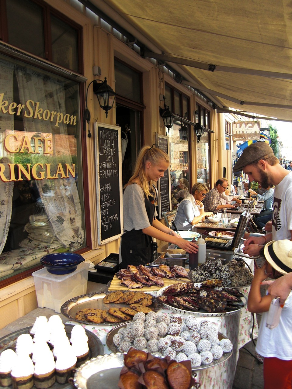
[[[292,359],[292,292],[282,308],[280,323],[276,328],[266,327],[268,312],[262,314],[255,350],[263,357]]]

